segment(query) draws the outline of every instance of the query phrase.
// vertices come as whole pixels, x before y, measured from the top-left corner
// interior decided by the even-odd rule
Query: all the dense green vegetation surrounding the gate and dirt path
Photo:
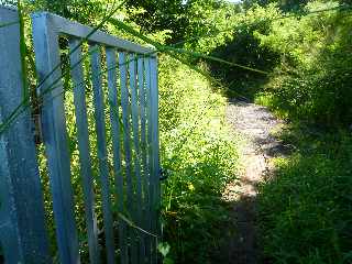
[[[108,2],[29,1],[25,10],[47,9],[96,25],[112,8]],[[238,167],[235,139],[223,119],[226,96],[267,106],[287,122],[277,136],[293,151],[277,158],[257,197],[263,263],[351,263],[349,1],[131,0],[113,18],[140,33],[109,21],[103,30],[184,48],[160,56],[161,152],[169,172],[163,185],[165,263],[209,263],[226,243],[218,227],[231,223],[221,194]],[[65,84],[67,114],[74,116]],[[74,122],[68,132],[75,194],[81,196]],[[84,229],[81,206],[77,215]],[[52,219],[48,213],[54,232]]]

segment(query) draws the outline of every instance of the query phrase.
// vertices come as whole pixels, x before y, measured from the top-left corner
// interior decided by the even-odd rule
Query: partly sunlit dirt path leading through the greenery
[[[227,119],[242,139],[240,155],[242,172],[240,183],[228,186],[223,194],[233,202],[233,220],[237,234],[230,239],[228,263],[258,263],[256,245],[255,197],[256,186],[272,170],[271,160],[285,152],[271,131],[279,128],[282,121],[264,107],[244,101],[232,101],[227,109]]]

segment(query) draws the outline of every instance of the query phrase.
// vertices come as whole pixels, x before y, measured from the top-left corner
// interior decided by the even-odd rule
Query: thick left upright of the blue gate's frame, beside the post
[[[33,42],[38,92],[43,100],[42,127],[53,195],[56,234],[62,263],[80,263],[70,158],[63,98],[58,33],[48,13],[33,14]]]

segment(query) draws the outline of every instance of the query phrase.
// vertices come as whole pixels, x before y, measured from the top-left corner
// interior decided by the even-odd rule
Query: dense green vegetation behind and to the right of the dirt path
[[[255,100],[287,121],[277,136],[292,154],[276,161],[257,199],[263,262],[350,263],[349,2],[244,1],[208,10],[213,23],[204,18],[211,26],[185,33],[184,46],[266,72],[207,61],[227,96]]]

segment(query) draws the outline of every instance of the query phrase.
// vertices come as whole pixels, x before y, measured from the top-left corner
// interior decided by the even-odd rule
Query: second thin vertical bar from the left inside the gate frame
[[[105,105],[101,85],[101,58],[100,47],[91,45],[89,47],[91,54],[91,75],[92,75],[92,89],[95,98],[95,117],[97,129],[97,145],[98,145],[98,160],[100,180],[102,188],[102,211],[103,211],[103,227],[107,245],[108,263],[114,263],[114,240],[113,240],[113,219],[111,213],[111,199],[109,188],[109,166],[108,166],[108,152],[107,152],[107,136],[105,124]]]

